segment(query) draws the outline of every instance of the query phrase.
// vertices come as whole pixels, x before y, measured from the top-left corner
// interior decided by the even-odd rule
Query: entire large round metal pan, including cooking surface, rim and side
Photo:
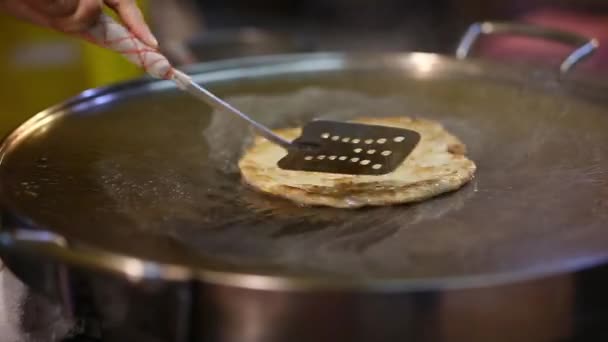
[[[329,323],[314,317],[336,310],[342,324],[369,320],[362,331],[389,324],[390,338],[422,340],[418,315],[446,304],[421,293],[464,291],[474,303],[531,286],[572,298],[562,277],[608,257],[608,88],[566,74],[574,64],[560,73],[430,53],[312,54],[192,70],[271,127],[319,116],[422,116],[459,136],[478,164],[477,178],[452,194],[356,211],[299,207],[244,186],[236,161],[251,131],[167,82],[88,91],[36,115],[2,145],[0,249],[15,273],[64,300],[81,288],[99,298],[118,296],[116,288],[137,293],[120,292],[125,303],[140,291],[158,300],[159,287],[178,287],[188,294],[179,312],[185,305],[185,314],[200,314],[196,303],[206,303],[196,315],[206,320],[195,325],[207,329],[202,339],[214,332],[257,341],[243,337],[253,324],[267,334],[279,329],[260,341],[294,333],[336,340],[347,335],[327,333]],[[52,265],[43,268],[50,273],[40,265]],[[524,280],[542,285],[512,285]],[[141,285],[150,283],[159,287]],[[488,286],[497,292],[469,290]],[[568,311],[566,302],[555,310]],[[468,317],[452,310],[451,318]],[[157,313],[174,318],[168,311]],[[395,314],[405,316],[380,319]],[[301,321],[313,318],[306,329]],[[496,336],[514,327],[499,326]],[[544,332],[535,329],[521,331]]]

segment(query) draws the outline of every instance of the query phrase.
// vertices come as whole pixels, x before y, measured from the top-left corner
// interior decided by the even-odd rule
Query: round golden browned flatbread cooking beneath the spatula
[[[361,176],[283,170],[277,162],[286,151],[257,137],[239,161],[243,180],[261,192],[302,205],[360,208],[422,201],[459,189],[473,179],[476,166],[465,156],[466,146],[435,121],[391,117],[353,122],[414,130],[421,140],[393,172]],[[293,140],[301,129],[275,132]]]

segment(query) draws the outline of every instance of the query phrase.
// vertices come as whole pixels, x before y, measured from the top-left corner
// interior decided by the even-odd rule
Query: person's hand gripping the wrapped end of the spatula
[[[69,34],[94,26],[104,5],[115,11],[137,38],[158,46],[135,0],[0,0],[0,9],[18,18]]]

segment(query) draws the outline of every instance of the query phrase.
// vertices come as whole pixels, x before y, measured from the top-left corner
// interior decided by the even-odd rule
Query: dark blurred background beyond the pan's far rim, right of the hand
[[[174,3],[192,18],[180,23],[184,33],[173,23],[169,25],[172,28],[166,28],[162,20],[157,20],[161,34],[173,33],[165,34],[163,40],[168,47],[188,40],[197,60],[230,57],[237,52],[239,40],[239,52],[246,53],[243,47],[248,44],[247,39],[238,37],[239,29],[243,32],[243,28],[249,28],[246,33],[251,41],[257,39],[258,51],[266,43],[269,51],[443,53],[451,53],[466,27],[480,20],[527,20],[589,35],[608,31],[608,1],[605,0],[177,0],[167,3]],[[589,25],[588,21],[594,19],[597,25]],[[194,29],[193,22],[200,27]],[[223,44],[219,43],[221,38]],[[234,45],[230,45],[231,40]],[[231,51],[230,47],[235,50]],[[251,51],[254,53],[255,49]]]

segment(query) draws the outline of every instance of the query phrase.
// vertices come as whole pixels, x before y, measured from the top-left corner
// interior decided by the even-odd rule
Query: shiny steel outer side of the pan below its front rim
[[[268,292],[129,282],[3,256],[77,322],[66,341],[599,341],[608,338],[608,268],[461,291]],[[27,272],[24,272],[27,270]],[[23,322],[44,319],[29,312]],[[39,333],[39,332],[38,332]]]

